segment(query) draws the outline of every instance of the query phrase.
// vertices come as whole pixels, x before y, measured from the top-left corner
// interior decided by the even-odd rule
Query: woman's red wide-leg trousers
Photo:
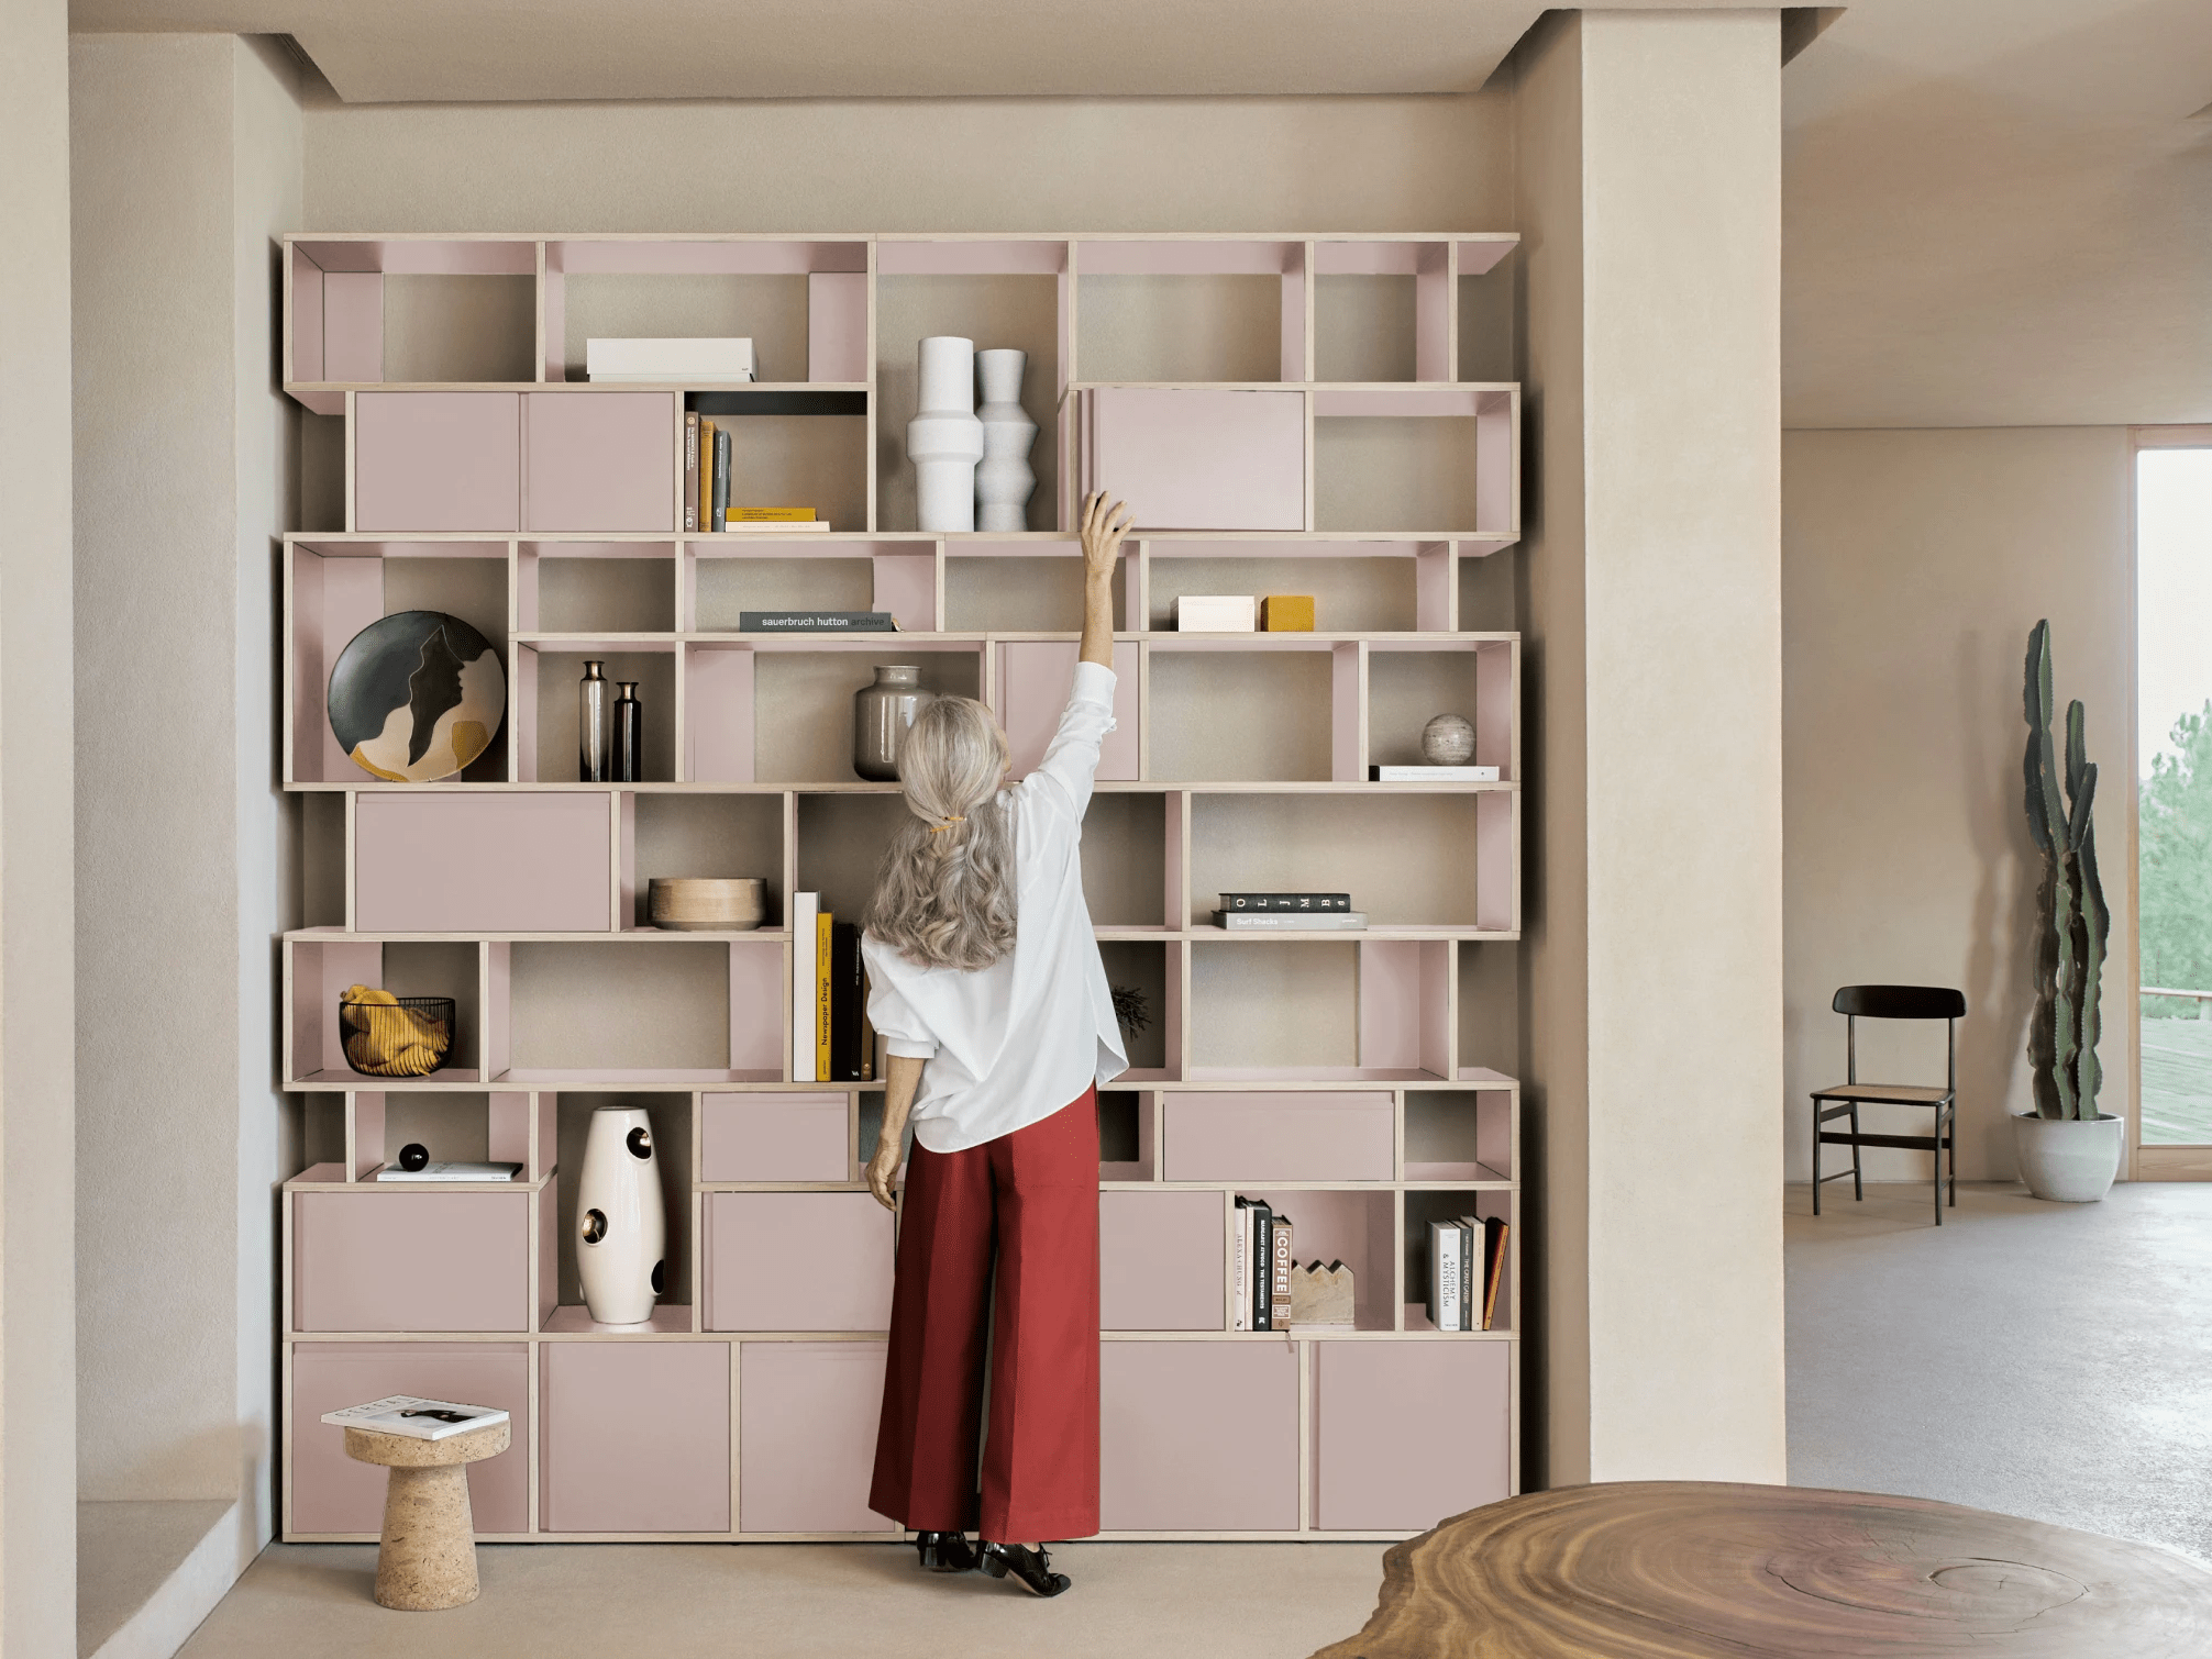
[[[914,1146],[867,1506],[998,1544],[1099,1528],[1097,1088],[982,1146]]]

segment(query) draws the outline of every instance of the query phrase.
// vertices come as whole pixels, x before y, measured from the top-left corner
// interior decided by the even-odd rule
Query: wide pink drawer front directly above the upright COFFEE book
[[[1168,1095],[1170,1181],[1389,1181],[1391,1097]]]

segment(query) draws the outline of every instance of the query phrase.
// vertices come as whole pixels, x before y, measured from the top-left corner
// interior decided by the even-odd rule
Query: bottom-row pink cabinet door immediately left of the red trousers
[[[883,1343],[737,1345],[739,1531],[898,1531],[867,1506],[883,1352]]]

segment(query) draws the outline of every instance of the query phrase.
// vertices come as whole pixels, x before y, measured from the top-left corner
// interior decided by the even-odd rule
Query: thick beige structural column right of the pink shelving
[[[1783,1480],[1781,20],[1515,58],[1542,1478]]]

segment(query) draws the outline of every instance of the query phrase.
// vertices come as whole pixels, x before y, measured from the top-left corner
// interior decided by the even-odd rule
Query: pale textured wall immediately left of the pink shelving
[[[270,1524],[283,1155],[270,538],[292,418],[270,234],[299,217],[288,80],[230,35],[71,51],[80,1478],[86,1498],[243,1493],[248,1557]]]

